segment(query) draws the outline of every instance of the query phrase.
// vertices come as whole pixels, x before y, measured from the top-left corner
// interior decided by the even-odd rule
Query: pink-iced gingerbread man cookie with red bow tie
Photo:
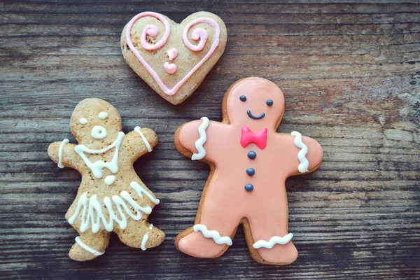
[[[321,164],[322,147],[299,132],[276,133],[284,97],[264,78],[234,83],[225,93],[222,111],[222,123],[203,117],[176,130],[176,148],[211,167],[195,225],[176,237],[176,248],[198,258],[216,258],[232,245],[242,223],[254,260],[289,264],[297,250],[288,232],[285,182],[314,171]]]

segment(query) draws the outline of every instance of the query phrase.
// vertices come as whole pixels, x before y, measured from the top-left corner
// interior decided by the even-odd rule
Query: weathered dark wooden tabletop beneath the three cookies
[[[117,2],[0,4],[1,279],[419,279],[419,1]],[[225,54],[179,106],[121,55],[120,32],[144,10],[176,22],[208,10],[228,27]],[[297,130],[325,151],[318,171],[287,181],[300,256],[285,267],[254,262],[241,229],[218,259],[174,248],[209,174],[176,151],[174,131],[202,116],[221,120],[225,90],[246,76],[283,90],[279,132]],[[167,233],[158,248],[129,248],[112,235],[100,258],[67,256],[76,232],[64,214],[80,175],[57,168],[46,149],[74,143],[69,119],[87,97],[116,106],[125,132],[141,125],[158,134],[158,147],[135,165],[162,202],[150,217]]]

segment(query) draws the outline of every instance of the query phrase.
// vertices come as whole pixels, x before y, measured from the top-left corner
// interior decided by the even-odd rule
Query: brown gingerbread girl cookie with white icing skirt
[[[146,188],[133,163],[158,144],[155,132],[136,127],[122,132],[118,111],[102,99],[85,99],[71,115],[68,139],[52,143],[48,155],[58,167],[71,167],[82,182],[66,220],[80,237],[71,247],[73,260],[92,260],[104,254],[109,232],[116,232],[124,244],[141,248],[158,246],[165,233],[147,222],[159,200]]]

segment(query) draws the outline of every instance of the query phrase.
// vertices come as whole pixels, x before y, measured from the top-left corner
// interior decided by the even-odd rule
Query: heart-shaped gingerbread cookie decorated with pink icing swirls
[[[144,12],[125,26],[121,49],[137,75],[176,105],[202,83],[226,40],[225,24],[212,13],[193,13],[177,24],[160,13]]]

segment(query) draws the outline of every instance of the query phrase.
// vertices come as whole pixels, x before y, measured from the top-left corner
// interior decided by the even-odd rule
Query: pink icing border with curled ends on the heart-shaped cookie
[[[146,42],[146,35],[148,35],[148,36],[158,36],[159,29],[157,27],[155,27],[154,25],[146,25],[146,27],[144,27],[144,30],[143,30],[143,32],[141,34],[141,38],[140,38],[141,46],[143,48],[145,48],[146,50],[156,50],[158,48],[162,48],[162,46],[165,45],[165,43],[167,42],[167,39],[169,38],[171,27],[169,25],[168,20],[165,18],[164,15],[161,15],[160,13],[154,13],[154,12],[144,12],[144,13],[139,13],[138,15],[134,16],[134,18],[132,18],[132,20],[130,20],[130,22],[128,22],[128,24],[127,24],[127,29],[125,30],[125,40],[127,42],[128,47],[130,48],[130,50],[134,53],[134,55],[137,57],[137,59],[139,59],[139,62],[141,62],[141,64],[143,64],[144,68],[146,68],[146,70],[149,73],[151,73],[151,75],[155,79],[156,83],[158,83],[160,89],[168,95],[174,95],[174,94],[176,94],[176,92],[178,92],[179,88],[184,83],[186,83],[186,80],[188,80],[188,78],[193,76],[193,73],[195,73],[195,71],[197,71],[197,69],[199,69],[200,66],[202,66],[202,64],[204,64],[204,62],[207,61],[207,59],[209,59],[210,55],[213,54],[214,50],[216,50],[216,48],[219,44],[219,40],[220,40],[221,29],[220,29],[218,23],[211,18],[197,18],[197,19],[193,20],[192,22],[190,22],[185,27],[185,29],[183,30],[182,38],[183,38],[184,44],[190,50],[193,50],[193,51],[202,50],[202,48],[204,48],[204,45],[207,41],[207,36],[208,36],[207,31],[205,31],[204,29],[201,29],[201,28],[195,29],[193,31],[193,34],[192,34],[193,40],[200,39],[199,44],[198,45],[193,45],[192,43],[190,43],[190,41],[188,41],[188,36],[187,36],[188,35],[188,30],[190,30],[190,28],[193,27],[193,25],[197,25],[198,23],[205,22],[205,23],[208,23],[209,25],[211,25],[212,27],[214,27],[214,30],[215,30],[214,41],[211,44],[211,48],[210,48],[209,52],[207,52],[207,54],[204,55],[204,57],[200,60],[200,62],[198,62],[193,67],[193,69],[191,69],[186,74],[186,76],[184,76],[178,83],[176,83],[176,85],[174,85],[174,87],[169,89],[162,82],[162,79],[159,77],[158,73],[156,73],[156,71],[153,70],[153,68],[146,62],[146,60],[144,60],[144,58],[140,55],[139,51],[134,47],[134,45],[132,43],[131,29],[132,29],[134,23],[137,20],[139,20],[140,18],[144,18],[146,16],[151,16],[153,18],[157,18],[158,20],[160,20],[165,25],[165,34],[160,39],[160,41],[158,43],[156,43],[154,45],[148,44]],[[204,41],[204,43],[202,43],[203,41]]]

